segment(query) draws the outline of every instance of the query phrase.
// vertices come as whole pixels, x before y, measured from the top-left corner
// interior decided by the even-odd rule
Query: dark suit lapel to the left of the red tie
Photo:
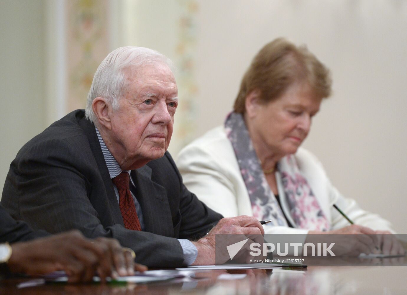
[[[95,125],[85,118],[82,118],[79,124],[88,137],[90,149],[92,150],[92,153],[95,157],[96,164],[98,165],[98,170],[101,173],[103,184],[105,185],[106,189],[107,199],[109,201],[109,211],[112,213],[113,216],[113,222],[115,224],[121,224],[124,226],[123,217],[117,202],[116,193],[114,192],[112,179],[110,179],[109,170],[106,166],[105,157],[103,156],[101,145],[96,134]],[[99,218],[102,219],[103,216],[100,216]]]

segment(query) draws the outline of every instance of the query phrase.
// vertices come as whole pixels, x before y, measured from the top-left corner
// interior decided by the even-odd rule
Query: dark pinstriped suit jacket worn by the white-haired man
[[[198,239],[222,216],[189,192],[169,153],[131,171],[145,232],[125,229],[94,125],[76,110],[26,143],[10,166],[1,204],[51,233],[113,237],[149,267],[183,262],[176,238]]]

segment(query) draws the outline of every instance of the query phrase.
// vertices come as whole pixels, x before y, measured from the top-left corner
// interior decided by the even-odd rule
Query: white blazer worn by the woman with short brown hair
[[[349,222],[333,208],[335,203],[354,223],[375,230],[394,233],[389,221],[377,214],[359,208],[353,200],[342,196],[330,183],[322,164],[306,149],[299,148],[295,157],[306,177],[322,211],[328,219],[330,229],[339,229]],[[225,217],[253,216],[249,194],[240,173],[232,144],[223,126],[216,127],[182,149],[177,157],[177,167],[184,184],[208,207]],[[289,213],[287,199],[276,174],[281,207],[290,223],[295,223]],[[307,229],[284,226],[264,226],[265,234],[307,234]]]

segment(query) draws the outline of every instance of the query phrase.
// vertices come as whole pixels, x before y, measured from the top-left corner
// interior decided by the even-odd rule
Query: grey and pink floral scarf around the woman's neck
[[[280,205],[267,183],[243,116],[230,113],[225,121],[225,131],[233,146],[249,193],[253,216],[258,220],[273,220],[268,225],[288,226]],[[283,157],[277,164],[277,170],[281,175],[289,212],[295,226],[310,230],[328,230],[328,221],[311,187],[298,168],[295,157],[293,155]]]

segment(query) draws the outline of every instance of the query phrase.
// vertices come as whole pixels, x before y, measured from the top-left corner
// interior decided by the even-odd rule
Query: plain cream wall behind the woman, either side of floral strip
[[[185,138],[221,124],[256,52],[287,37],[306,44],[333,72],[333,96],[313,120],[304,146],[319,157],[339,191],[406,232],[407,1],[128,2],[142,20],[132,27],[131,42],[171,58],[179,41],[180,11],[174,7],[197,6],[190,30],[197,94],[188,101],[180,87],[180,105],[186,100],[189,108],[177,112],[175,122],[186,114],[195,120],[187,135],[173,137],[171,153]]]

